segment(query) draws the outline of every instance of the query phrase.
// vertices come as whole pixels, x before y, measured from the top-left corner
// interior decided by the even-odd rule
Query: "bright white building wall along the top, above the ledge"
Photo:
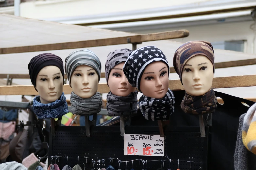
[[[35,0],[20,4],[20,16],[36,19],[73,17],[206,1],[213,0]]]

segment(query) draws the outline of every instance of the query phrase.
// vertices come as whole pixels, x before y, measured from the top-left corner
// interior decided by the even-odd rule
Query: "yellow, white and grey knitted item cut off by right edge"
[[[256,155],[256,103],[247,111],[242,127],[244,146]]]

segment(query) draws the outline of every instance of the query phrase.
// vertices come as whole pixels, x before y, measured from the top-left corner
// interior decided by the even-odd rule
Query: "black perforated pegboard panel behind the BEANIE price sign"
[[[127,126],[125,128],[126,134],[159,134],[158,126]],[[66,164],[73,167],[77,164],[77,158],[67,158],[79,156],[79,165],[85,169],[93,168],[93,160],[118,158],[122,161],[129,161],[135,159],[147,160],[147,170],[155,170],[161,167],[161,161],[150,160],[166,160],[164,162],[164,169],[169,169],[169,161],[166,158],[168,156],[172,160],[180,160],[179,168],[181,170],[206,170],[207,169],[207,153],[208,153],[208,138],[209,127],[206,127],[206,137],[200,137],[200,129],[197,126],[168,126],[165,129],[165,157],[159,156],[134,156],[124,155],[124,141],[120,136],[119,126],[95,126],[91,128],[91,137],[86,137],[86,131],[84,126],[60,126],[56,128],[55,135],[50,136],[49,141],[49,156],[58,155],[62,156],[57,161],[60,169]],[[82,157],[89,157],[86,160]],[[54,159],[55,160],[55,159]],[[55,162],[53,160],[53,163]],[[186,161],[193,161],[191,168]],[[51,164],[49,159],[48,165]],[[99,166],[96,163],[93,170],[97,170]],[[102,163],[101,163],[102,164]],[[104,163],[106,168],[109,165],[109,161]],[[115,169],[119,168],[117,159],[111,163]],[[102,167],[102,165],[100,166]],[[163,167],[163,165],[162,165]],[[120,169],[131,169],[132,163],[121,163]],[[142,163],[139,161],[133,162],[134,169],[142,169]],[[171,168],[177,169],[178,162],[171,161]]]

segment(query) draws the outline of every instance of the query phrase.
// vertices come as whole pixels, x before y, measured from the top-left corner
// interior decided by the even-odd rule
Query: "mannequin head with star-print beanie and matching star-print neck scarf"
[[[168,88],[169,65],[155,46],[141,47],[126,60],[123,71],[133,87],[143,93],[139,108],[147,120],[168,120],[173,113],[174,97]]]

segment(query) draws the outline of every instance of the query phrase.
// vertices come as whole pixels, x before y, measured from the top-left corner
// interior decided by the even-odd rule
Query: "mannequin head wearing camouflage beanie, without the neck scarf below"
[[[214,75],[214,50],[210,42],[190,41],[178,48],[173,65],[185,91],[201,96],[211,90]]]

